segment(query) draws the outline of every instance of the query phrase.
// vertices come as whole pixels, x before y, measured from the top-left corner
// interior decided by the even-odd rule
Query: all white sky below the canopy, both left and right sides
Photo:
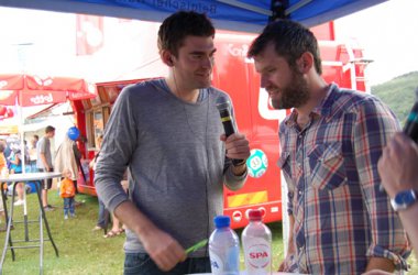
[[[356,43],[364,50],[364,57],[373,59],[366,69],[370,85],[418,70],[417,11],[417,0],[389,0],[334,22],[338,41]],[[51,72],[53,67],[55,75],[70,75],[74,67],[79,74],[91,73],[88,66],[76,63],[66,54],[74,52],[74,14],[0,8],[0,73],[21,67],[28,70],[36,67],[44,72]],[[140,24],[133,25],[128,36],[133,37],[139,28]],[[141,33],[150,30],[148,26]],[[116,30],[113,34],[121,35],[121,31]],[[132,54],[130,57],[122,55],[130,52],[131,48],[124,48],[129,44],[133,48],[138,44],[122,36],[116,36],[111,42],[117,51],[106,54],[102,59],[102,76],[107,75],[107,64],[117,64],[121,73],[125,67],[138,66],[139,59],[132,58]],[[136,52],[134,55],[141,54],[147,55]],[[146,62],[144,58],[141,61]],[[123,64],[127,62],[131,64]]]

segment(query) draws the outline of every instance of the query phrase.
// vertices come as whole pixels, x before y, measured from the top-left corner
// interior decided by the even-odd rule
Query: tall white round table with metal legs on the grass
[[[61,177],[61,173],[55,173],[55,172],[48,172],[48,173],[25,173],[25,174],[11,174],[8,177],[1,177],[0,176],[0,183],[1,186],[3,183],[11,183],[13,185],[12,187],[12,197],[10,201],[10,213],[8,213],[8,208],[6,204],[7,196],[4,195],[3,190],[1,190],[1,196],[3,199],[3,207],[4,207],[4,216],[7,220],[7,230],[6,230],[6,240],[4,240],[4,248],[3,248],[3,253],[1,255],[1,262],[0,262],[0,274],[2,274],[3,271],[3,263],[6,258],[6,254],[8,252],[8,249],[11,250],[12,252],[12,260],[14,261],[14,249],[32,249],[32,248],[40,248],[40,274],[43,274],[43,254],[44,254],[44,241],[51,241],[56,256],[58,256],[58,249],[56,248],[54,240],[51,234],[50,226],[46,220],[45,211],[42,205],[42,198],[41,198],[41,182],[40,180],[46,180],[50,178],[56,178]],[[13,245],[13,241],[11,238],[11,226],[13,224],[13,207],[14,207],[14,195],[15,195],[15,188],[18,183],[35,183],[35,188],[36,188],[36,194],[37,194],[37,200],[40,204],[40,217],[37,220],[34,221],[29,221],[28,220],[28,208],[26,208],[26,188],[23,188],[23,223],[24,223],[24,240],[16,240],[14,243],[22,243],[22,242],[37,242],[37,244],[32,244],[32,245],[20,245],[15,246]],[[40,224],[40,239],[37,240],[30,240],[29,239],[29,229],[28,229],[28,223],[30,222],[38,222]],[[15,222],[19,223],[19,222]],[[48,239],[44,240],[44,230],[43,226],[46,228],[46,232],[48,234]]]

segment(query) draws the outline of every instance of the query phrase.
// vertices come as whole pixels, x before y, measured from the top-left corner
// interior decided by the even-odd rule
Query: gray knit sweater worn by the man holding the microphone
[[[160,229],[185,249],[213,231],[212,219],[222,213],[222,183],[242,187],[226,158],[218,97],[208,88],[197,103],[169,92],[165,80],[127,87],[113,106],[98,158],[95,185],[111,211],[128,197],[120,182],[129,167],[130,199]],[[127,231],[125,252],[145,252],[139,238]],[[207,256],[207,248],[193,257]]]

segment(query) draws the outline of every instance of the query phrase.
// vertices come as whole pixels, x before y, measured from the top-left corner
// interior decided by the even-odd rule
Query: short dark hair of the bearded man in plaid
[[[296,61],[304,53],[311,53],[315,69],[319,75],[322,74],[318,41],[314,33],[304,25],[290,20],[277,20],[270,23],[264,28],[263,33],[253,41],[248,56],[254,57],[261,54],[270,43],[274,43],[277,55],[286,58],[290,67],[296,66]]]

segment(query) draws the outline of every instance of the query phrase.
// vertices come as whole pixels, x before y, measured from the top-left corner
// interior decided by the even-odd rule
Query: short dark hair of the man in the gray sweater
[[[158,50],[168,51],[177,57],[186,36],[215,36],[212,22],[206,14],[178,11],[166,18],[158,31]]]

